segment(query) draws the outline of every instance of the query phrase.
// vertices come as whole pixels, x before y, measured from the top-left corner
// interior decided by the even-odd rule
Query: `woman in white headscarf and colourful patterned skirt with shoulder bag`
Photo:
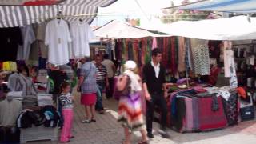
[[[121,122],[124,132],[124,144],[130,144],[131,132],[139,130],[142,141],[139,144],[147,144],[146,128],[142,113],[142,80],[135,74],[137,65],[134,61],[127,61],[125,72],[118,78],[117,89],[122,96],[118,105],[118,122]]]

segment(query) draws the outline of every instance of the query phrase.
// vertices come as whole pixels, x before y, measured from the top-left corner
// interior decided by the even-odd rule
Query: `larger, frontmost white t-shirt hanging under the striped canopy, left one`
[[[48,62],[54,65],[65,65],[69,62],[68,43],[71,42],[67,22],[54,19],[46,25],[45,44],[49,46]]]

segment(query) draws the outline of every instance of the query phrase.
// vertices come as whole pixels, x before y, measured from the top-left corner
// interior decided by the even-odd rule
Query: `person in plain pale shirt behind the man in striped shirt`
[[[114,66],[114,62],[112,62],[109,59],[108,54],[104,54],[104,61],[102,62],[102,65],[106,67],[107,72],[107,78],[109,80],[109,88],[106,90],[106,98],[113,97],[113,90],[114,90],[114,74],[116,71],[116,68]]]

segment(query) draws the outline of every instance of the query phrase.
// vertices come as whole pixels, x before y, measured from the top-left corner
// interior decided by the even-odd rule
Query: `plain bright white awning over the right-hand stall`
[[[238,16],[202,21],[179,21],[158,26],[158,30],[174,36],[209,40],[256,39],[256,18]]]

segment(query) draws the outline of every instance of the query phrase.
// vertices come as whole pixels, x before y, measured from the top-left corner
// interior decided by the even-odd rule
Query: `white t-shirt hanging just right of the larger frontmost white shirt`
[[[71,22],[70,34],[72,37],[72,48],[75,58],[84,58],[90,56],[89,42],[94,38],[94,32],[91,30],[90,25],[85,22]]]

